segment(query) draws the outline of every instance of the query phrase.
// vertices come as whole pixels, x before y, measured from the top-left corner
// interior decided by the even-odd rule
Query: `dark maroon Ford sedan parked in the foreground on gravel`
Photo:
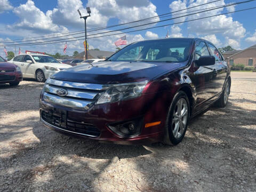
[[[212,43],[142,41],[93,66],[54,74],[41,93],[41,121],[100,141],[177,145],[189,119],[214,103],[226,106],[230,85],[230,70]]]

